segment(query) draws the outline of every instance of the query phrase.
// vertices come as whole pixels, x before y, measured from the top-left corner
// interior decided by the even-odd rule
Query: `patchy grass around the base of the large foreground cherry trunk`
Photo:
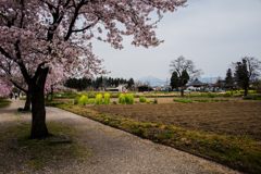
[[[30,124],[20,122],[0,129],[0,163],[5,170],[20,165],[28,173],[37,173],[47,166],[69,165],[90,156],[89,149],[75,138],[77,130],[62,123],[48,123],[54,135],[46,139],[29,139]],[[5,151],[4,149],[9,149]],[[0,167],[1,169],[1,167]]]

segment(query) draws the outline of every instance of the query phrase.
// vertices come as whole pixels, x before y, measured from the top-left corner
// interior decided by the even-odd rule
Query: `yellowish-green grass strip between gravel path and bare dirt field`
[[[248,137],[189,130],[174,125],[137,122],[89,108],[58,104],[60,109],[123,129],[154,142],[203,157],[247,173],[261,173],[261,141]]]

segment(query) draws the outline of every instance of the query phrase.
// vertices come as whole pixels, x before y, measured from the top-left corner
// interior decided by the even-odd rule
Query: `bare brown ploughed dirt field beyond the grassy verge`
[[[141,122],[249,136],[261,140],[261,102],[166,103],[97,105],[95,110]]]

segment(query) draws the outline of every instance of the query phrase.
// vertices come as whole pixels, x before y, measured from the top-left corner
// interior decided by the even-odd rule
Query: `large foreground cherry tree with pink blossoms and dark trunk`
[[[32,138],[48,136],[45,86],[50,69],[99,72],[91,52],[98,39],[122,49],[158,46],[156,27],[163,13],[186,0],[0,0],[0,62],[11,62],[32,92]],[[157,14],[157,15],[154,15]],[[79,65],[85,60],[89,69]],[[8,66],[4,66],[8,69]],[[8,74],[7,74],[8,75]],[[11,79],[11,77],[10,77]]]

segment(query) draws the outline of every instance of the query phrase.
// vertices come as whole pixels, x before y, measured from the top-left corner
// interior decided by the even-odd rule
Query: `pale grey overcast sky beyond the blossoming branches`
[[[110,76],[170,78],[170,62],[184,55],[203,77],[225,76],[244,55],[261,59],[261,0],[188,0],[186,8],[164,16],[157,29],[164,42],[157,48],[123,50],[95,44]]]

